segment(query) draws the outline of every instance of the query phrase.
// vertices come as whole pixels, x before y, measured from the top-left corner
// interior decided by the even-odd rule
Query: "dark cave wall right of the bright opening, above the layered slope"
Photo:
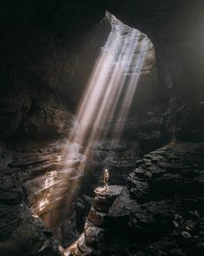
[[[110,1],[108,10],[143,31],[155,46],[158,100],[169,102],[161,121],[165,120],[162,124],[165,136],[184,141],[202,140],[202,1]],[[185,111],[180,109],[178,113],[178,108],[194,112],[194,125],[189,125],[185,117],[180,120]]]

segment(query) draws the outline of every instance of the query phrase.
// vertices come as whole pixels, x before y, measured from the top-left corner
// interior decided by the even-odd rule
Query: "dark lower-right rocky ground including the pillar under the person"
[[[96,190],[76,255],[203,255],[203,155],[172,143],[137,161],[127,187]]]

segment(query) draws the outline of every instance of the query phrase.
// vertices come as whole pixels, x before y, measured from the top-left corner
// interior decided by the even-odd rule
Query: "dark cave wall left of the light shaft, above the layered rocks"
[[[3,4],[1,137],[29,128],[30,134],[67,134],[66,112],[76,108],[110,30],[100,25],[102,17],[101,10],[67,1]]]

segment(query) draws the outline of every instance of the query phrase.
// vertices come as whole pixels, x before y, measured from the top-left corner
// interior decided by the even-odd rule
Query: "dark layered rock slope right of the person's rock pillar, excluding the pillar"
[[[202,143],[171,144],[147,154],[129,176],[110,226],[132,237],[126,242],[135,243],[127,245],[135,255],[203,253],[203,152]]]

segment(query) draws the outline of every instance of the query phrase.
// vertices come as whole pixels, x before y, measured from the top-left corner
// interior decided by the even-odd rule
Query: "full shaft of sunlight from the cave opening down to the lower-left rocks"
[[[83,161],[74,161],[75,148],[82,149],[82,154],[86,156],[86,159],[89,158],[94,142],[109,134],[110,121],[113,118],[116,124],[112,131],[112,140],[120,138],[124,121],[136,93],[146,51],[150,48],[150,40],[141,32],[124,25],[109,13],[106,13],[106,18],[112,24],[112,30],[104,47],[101,48],[77,108],[76,116],[80,122],[80,131],[78,133],[73,131],[69,135],[67,148],[59,156],[60,160],[66,160],[63,170],[70,170],[70,173],[66,172],[66,175],[63,173],[63,182],[69,185],[66,187],[66,196],[59,202],[59,206],[62,204],[65,207],[61,212],[53,211],[51,215],[41,216],[46,223],[51,223],[51,226],[54,225],[53,215],[59,215],[57,215],[57,220],[69,218],[79,192],[79,183],[85,169],[85,158]],[[74,148],[72,145],[75,145]],[[80,145],[82,148],[79,148]],[[48,187],[53,181],[54,177],[51,174],[48,175],[44,187]],[[49,198],[46,200],[39,201],[38,208],[42,213],[43,208],[46,208],[50,201]]]

